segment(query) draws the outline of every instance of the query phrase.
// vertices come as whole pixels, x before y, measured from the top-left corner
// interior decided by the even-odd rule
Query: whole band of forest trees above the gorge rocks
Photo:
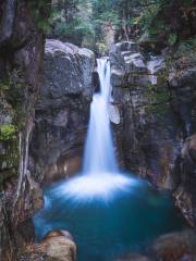
[[[53,0],[49,36],[94,50],[132,38],[174,46],[193,36],[195,0]]]

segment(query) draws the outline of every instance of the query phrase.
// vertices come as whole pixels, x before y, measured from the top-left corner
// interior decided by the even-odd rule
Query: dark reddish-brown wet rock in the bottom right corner
[[[163,235],[156,240],[154,251],[162,261],[195,260],[196,235],[193,231]]]

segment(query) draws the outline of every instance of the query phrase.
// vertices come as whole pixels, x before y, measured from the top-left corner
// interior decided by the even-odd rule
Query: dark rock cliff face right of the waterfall
[[[175,190],[177,206],[195,225],[195,163],[182,149],[193,146],[194,136],[191,145],[186,138],[196,132],[196,69],[179,69],[177,61],[166,66],[161,57],[139,52],[134,42],[114,45],[110,60],[126,169]]]

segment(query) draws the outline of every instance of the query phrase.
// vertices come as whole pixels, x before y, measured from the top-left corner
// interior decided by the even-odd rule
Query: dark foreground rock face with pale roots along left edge
[[[47,2],[47,1],[46,1]],[[49,2],[49,1],[48,1]],[[33,1],[0,0],[0,259],[15,260],[16,224],[35,210],[28,144],[44,53]],[[47,16],[37,7],[39,20]],[[4,190],[4,192],[2,192]],[[12,199],[14,198],[14,202]],[[40,208],[40,204],[37,206]],[[13,219],[11,219],[11,216]],[[22,245],[21,245],[22,246]]]

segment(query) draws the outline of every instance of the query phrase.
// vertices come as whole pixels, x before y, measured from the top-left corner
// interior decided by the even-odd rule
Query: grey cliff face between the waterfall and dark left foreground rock
[[[32,166],[39,182],[69,176],[81,169],[93,96],[94,53],[47,40],[40,97],[32,139]]]

